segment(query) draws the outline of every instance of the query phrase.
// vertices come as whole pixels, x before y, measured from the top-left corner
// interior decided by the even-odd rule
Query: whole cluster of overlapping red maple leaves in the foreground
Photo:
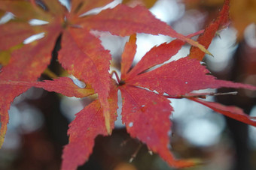
[[[15,16],[0,25],[0,146],[4,142],[11,102],[32,86],[68,97],[98,94],[98,99],[78,112],[69,125],[69,145],[63,150],[62,169],[76,169],[83,165],[93,151],[96,136],[111,134],[117,119],[118,90],[122,95],[122,121],[127,132],[159,154],[169,166],[186,167],[198,163],[196,160],[175,160],[169,151],[168,132],[172,125],[169,115],[173,111],[169,98],[194,100],[230,118],[256,126],[256,121],[245,115],[242,109],[207,102],[200,97],[210,94],[194,92],[221,87],[256,90],[252,85],[215,79],[200,64],[205,53],[209,53],[206,48],[215,32],[229,22],[228,0],[224,2],[218,18],[204,31],[187,36],[178,34],[142,6],[118,4],[96,15],[82,15],[111,1],[72,0],[70,11],[57,0],[0,1],[0,16],[5,12]],[[45,22],[43,25],[31,25],[32,19]],[[123,50],[120,79],[115,72],[108,72],[111,55],[91,30],[130,36]],[[24,43],[27,37],[40,33],[44,34],[41,40]],[[154,46],[131,68],[136,53],[136,33],[163,34],[177,39]],[[201,34],[197,41],[190,39],[197,34]],[[51,52],[59,35],[62,35],[62,40],[58,61],[69,74],[85,82],[85,87],[76,85],[69,77],[36,82],[50,64]],[[186,42],[193,46],[190,55],[163,64]],[[163,65],[148,70],[158,64]],[[112,79],[114,75],[117,81]]]

